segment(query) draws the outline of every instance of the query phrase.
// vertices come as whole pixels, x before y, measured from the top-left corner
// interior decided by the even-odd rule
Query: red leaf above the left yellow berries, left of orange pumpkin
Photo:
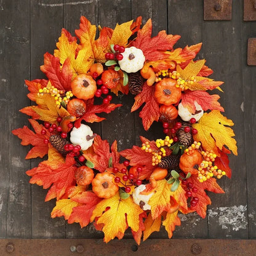
[[[47,52],[44,54],[44,65],[40,66],[41,71],[49,78],[52,86],[58,90],[71,90],[71,79],[73,71],[70,66],[70,59],[67,58],[62,66],[60,60]]]

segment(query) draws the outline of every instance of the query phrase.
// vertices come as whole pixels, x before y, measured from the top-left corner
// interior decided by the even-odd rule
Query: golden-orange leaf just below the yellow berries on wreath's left
[[[56,105],[55,98],[50,94],[44,94],[42,96],[42,100],[44,100],[44,105],[46,105],[46,108],[30,106],[30,108],[39,115],[40,120],[55,123],[57,122],[58,116],[61,118],[70,116],[70,113],[68,113],[65,108]]]

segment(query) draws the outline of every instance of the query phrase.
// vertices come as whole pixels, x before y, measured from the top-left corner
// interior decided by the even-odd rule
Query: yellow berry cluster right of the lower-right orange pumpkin
[[[226,172],[218,169],[218,166],[214,166],[214,161],[216,158],[216,154],[209,151],[201,151],[202,157],[204,160],[201,162],[198,167],[198,180],[199,182],[204,182],[210,177],[222,178],[223,175],[226,175]]]

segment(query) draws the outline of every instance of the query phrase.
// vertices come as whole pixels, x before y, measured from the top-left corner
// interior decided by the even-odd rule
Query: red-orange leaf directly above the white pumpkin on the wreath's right
[[[186,90],[185,94],[182,94],[182,105],[185,108],[188,108],[188,111],[190,111],[190,113],[195,113],[196,111],[196,106],[194,105],[195,101],[202,107],[202,110],[204,111],[224,111],[224,108],[220,106],[220,103],[218,102],[219,98],[219,95],[210,95],[208,92],[204,90]]]

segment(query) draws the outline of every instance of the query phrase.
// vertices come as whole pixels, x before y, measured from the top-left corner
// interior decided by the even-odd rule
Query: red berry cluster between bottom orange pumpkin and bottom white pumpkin
[[[129,163],[129,161],[126,160],[126,161],[123,162],[123,164],[124,164],[125,167],[128,167],[130,163]],[[142,172],[142,167],[137,167],[136,170],[137,170],[137,174],[139,174],[140,172]],[[130,186],[132,186],[132,185],[137,185],[137,186],[142,185],[142,180],[138,179],[138,175],[137,175],[137,177],[135,177],[134,174],[128,172],[127,168],[122,168],[121,170],[119,170],[117,167],[114,167],[113,172],[114,172],[114,174],[117,174],[118,172],[120,174],[124,174],[124,175],[122,175],[122,181],[124,183],[121,181],[121,178],[118,177],[118,176],[116,176],[114,178],[114,182],[116,182],[116,183],[121,182],[122,185],[124,185],[124,187],[125,187],[124,191],[126,191],[126,193],[130,192]],[[130,180],[131,185],[127,184],[127,181],[129,181],[129,180]]]

